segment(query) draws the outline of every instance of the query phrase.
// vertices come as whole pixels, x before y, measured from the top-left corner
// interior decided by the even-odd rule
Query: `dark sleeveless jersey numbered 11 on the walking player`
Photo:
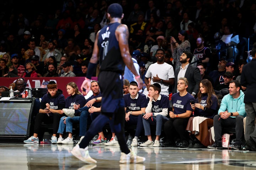
[[[98,35],[100,71],[123,73],[124,62],[116,39],[116,28],[120,23],[110,23],[103,27]]]

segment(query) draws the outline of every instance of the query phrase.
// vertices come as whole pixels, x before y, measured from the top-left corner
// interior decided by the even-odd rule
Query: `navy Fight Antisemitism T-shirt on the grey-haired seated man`
[[[180,96],[180,93],[172,95],[172,107],[174,107],[174,114],[182,114],[186,111],[193,111],[190,101],[195,101],[195,98],[187,93],[185,96]]]

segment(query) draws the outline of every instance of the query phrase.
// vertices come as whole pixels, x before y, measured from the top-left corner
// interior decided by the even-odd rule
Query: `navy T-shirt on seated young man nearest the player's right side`
[[[138,93],[138,98],[132,99],[130,94],[124,95],[124,107],[130,111],[140,111],[141,108],[146,108],[148,103],[146,96],[142,93]]]

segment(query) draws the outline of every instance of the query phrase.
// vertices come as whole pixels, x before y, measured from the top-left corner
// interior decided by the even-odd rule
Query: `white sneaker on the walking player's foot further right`
[[[135,152],[130,149],[130,153],[125,154],[121,152],[121,157],[119,163],[127,164],[127,163],[141,163],[144,162],[146,158],[139,157]]]

